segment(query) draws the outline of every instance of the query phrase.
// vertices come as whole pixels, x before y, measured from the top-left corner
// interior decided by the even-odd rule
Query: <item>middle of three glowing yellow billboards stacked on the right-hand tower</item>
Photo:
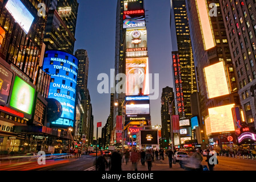
[[[214,98],[230,94],[229,79],[224,61],[203,68],[206,80],[207,97]]]

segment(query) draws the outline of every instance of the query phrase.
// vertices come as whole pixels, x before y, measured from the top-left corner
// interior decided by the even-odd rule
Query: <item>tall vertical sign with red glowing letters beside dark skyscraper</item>
[[[182,116],[185,117],[183,90],[182,90],[182,81],[181,81],[181,65],[179,64],[178,52],[173,52],[173,71],[174,71],[174,79],[175,79],[178,112],[182,113]]]

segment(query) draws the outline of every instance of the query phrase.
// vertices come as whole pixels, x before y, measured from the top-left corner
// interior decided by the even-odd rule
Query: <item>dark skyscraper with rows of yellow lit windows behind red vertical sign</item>
[[[197,92],[197,80],[195,77],[195,66],[193,59],[193,51],[190,40],[189,22],[187,19],[187,10],[185,0],[174,0],[173,9],[171,9],[171,29],[173,51],[178,51],[179,68],[181,74],[181,85],[183,94],[183,111],[181,117],[190,119],[191,117],[191,102],[190,95]],[[174,69],[174,68],[173,68]],[[175,71],[174,71],[175,74]],[[175,79],[174,75],[174,79]],[[175,82],[176,80],[174,80]],[[179,89],[175,87],[176,96],[179,94]],[[178,108],[177,108],[178,109]],[[180,113],[178,111],[178,113]]]

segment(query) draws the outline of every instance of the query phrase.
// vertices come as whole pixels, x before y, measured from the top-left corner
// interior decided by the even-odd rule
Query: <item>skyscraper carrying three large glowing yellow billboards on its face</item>
[[[217,7],[214,13],[210,13],[211,3]],[[234,134],[231,107],[240,106],[238,88],[219,1],[186,0],[186,7],[203,118],[199,125],[203,130],[202,140],[208,143],[206,137],[215,140],[221,132]],[[226,119],[222,118],[224,114],[228,114]]]

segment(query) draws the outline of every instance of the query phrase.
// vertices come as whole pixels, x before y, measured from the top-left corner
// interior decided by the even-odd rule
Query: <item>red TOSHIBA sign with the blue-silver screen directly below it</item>
[[[145,10],[123,11],[123,28],[145,26]]]

